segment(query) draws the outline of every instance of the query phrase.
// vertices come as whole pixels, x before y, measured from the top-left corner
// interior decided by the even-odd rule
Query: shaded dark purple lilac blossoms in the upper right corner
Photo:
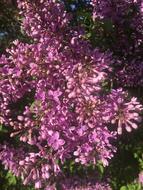
[[[113,43],[110,48],[117,56],[117,61],[113,65],[117,82],[122,86],[143,86],[143,1],[92,0],[91,2],[93,19],[112,23]]]

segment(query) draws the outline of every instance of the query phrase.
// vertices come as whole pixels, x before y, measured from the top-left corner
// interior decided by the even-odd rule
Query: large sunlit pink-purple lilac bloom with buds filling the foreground
[[[19,0],[18,5],[33,43],[16,40],[0,58],[0,123],[19,142],[1,144],[0,160],[35,189],[52,190],[60,183],[72,189],[71,182],[62,184],[64,164],[108,166],[115,142],[138,127],[143,107],[121,88],[106,91],[112,53],[92,47],[84,29],[71,24],[64,3]],[[83,184],[83,189],[108,187]]]

